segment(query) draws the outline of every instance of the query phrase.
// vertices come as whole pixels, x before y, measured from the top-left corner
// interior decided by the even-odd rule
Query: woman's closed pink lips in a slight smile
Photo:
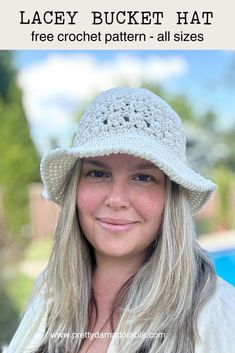
[[[138,222],[127,219],[97,218],[101,228],[111,232],[126,232],[131,230]]]

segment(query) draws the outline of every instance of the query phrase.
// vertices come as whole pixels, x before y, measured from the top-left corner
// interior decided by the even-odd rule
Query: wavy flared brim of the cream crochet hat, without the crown
[[[57,148],[47,153],[41,161],[41,176],[44,183],[43,196],[61,204],[65,182],[79,158],[127,153],[158,166],[171,180],[180,184],[189,193],[192,213],[198,212],[209,199],[216,185],[192,170],[174,151],[148,136],[122,134],[109,136],[96,143],[87,142],[72,148]]]

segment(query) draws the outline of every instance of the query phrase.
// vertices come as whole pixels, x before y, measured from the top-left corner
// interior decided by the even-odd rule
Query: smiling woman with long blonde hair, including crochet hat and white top
[[[187,166],[172,108],[114,88],[72,148],[42,160],[61,206],[55,245],[7,352],[235,352],[234,289],[216,278],[192,215],[215,185]]]

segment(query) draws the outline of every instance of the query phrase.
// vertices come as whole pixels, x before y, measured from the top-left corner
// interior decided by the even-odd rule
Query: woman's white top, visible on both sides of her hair
[[[43,336],[47,309],[40,292],[29,305],[21,324],[4,353],[30,353]],[[201,338],[195,353],[235,353],[235,288],[218,278],[216,292],[203,308],[198,322]],[[114,345],[107,353],[118,353]]]

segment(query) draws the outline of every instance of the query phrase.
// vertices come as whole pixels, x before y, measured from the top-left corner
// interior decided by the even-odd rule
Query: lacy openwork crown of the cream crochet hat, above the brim
[[[185,160],[186,138],[181,120],[160,97],[145,89],[115,88],[101,93],[87,108],[75,144],[97,143],[121,133],[140,133],[171,149]]]

